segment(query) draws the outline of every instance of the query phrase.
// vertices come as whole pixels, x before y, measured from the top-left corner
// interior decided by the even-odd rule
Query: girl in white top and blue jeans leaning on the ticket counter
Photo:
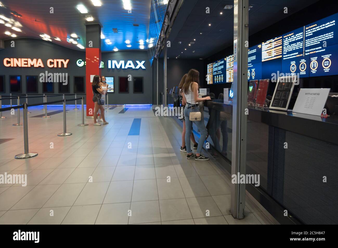
[[[190,147],[190,134],[192,131],[192,121],[189,119],[189,113],[192,108],[199,109],[198,102],[211,100],[210,96],[198,98],[198,84],[199,84],[199,72],[195,69],[191,69],[188,72],[187,78],[182,85],[181,94],[183,97],[183,101],[187,102],[186,107],[184,109],[184,118],[186,121],[186,148],[187,148],[187,158],[190,159],[195,157],[196,161],[207,161],[208,157],[205,157],[201,154],[204,141],[207,138],[207,129],[204,124],[204,120],[194,121],[196,126],[200,131],[200,138],[198,140],[198,146],[196,154],[192,153]]]

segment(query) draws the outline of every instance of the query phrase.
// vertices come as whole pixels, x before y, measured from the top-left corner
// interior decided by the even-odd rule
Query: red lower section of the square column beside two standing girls
[[[86,111],[87,118],[93,116],[94,102],[91,75],[101,76],[101,49],[100,48],[86,48]]]

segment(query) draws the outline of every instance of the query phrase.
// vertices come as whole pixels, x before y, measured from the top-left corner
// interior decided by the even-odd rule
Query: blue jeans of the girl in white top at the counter
[[[191,146],[190,146],[190,135],[192,132],[192,121],[189,120],[189,113],[191,111],[191,104],[187,103],[186,107],[184,108],[184,118],[186,119],[186,135],[185,135],[185,140],[186,140],[186,148],[187,148],[187,153],[191,153]],[[190,108],[188,108],[190,107]],[[195,107],[198,108],[199,107]],[[193,110],[193,112],[196,111],[196,109]],[[206,129],[206,125],[204,125],[204,120],[200,120],[200,121],[194,121],[196,126],[199,129],[200,132],[200,138],[198,140],[198,146],[197,146],[197,151],[196,153],[201,153],[202,148],[203,148],[203,144],[204,141],[207,138],[207,129]]]

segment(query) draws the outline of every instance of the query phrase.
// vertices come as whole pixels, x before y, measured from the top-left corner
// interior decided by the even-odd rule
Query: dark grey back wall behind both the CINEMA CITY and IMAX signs
[[[15,47],[10,46],[12,40],[5,41],[5,49],[0,50],[0,75],[5,75],[5,93],[1,95],[9,95],[9,75],[21,75],[22,94],[26,93],[26,75],[37,75],[48,71],[48,73],[68,73],[70,77],[70,93],[74,93],[74,76],[85,76],[86,66],[78,67],[76,61],[78,59],[85,59],[85,51],[78,51],[69,49],[63,46],[53,44],[48,41],[38,39],[14,39]],[[114,76],[115,93],[109,93],[110,104],[152,104],[153,100],[153,79],[152,68],[150,67],[147,51],[118,51],[118,52],[103,52],[102,61],[104,62],[104,69],[101,69],[103,76]],[[41,58],[44,63],[44,68],[34,67],[5,67],[3,65],[4,58]],[[69,59],[67,68],[49,68],[47,67],[47,59],[60,58]],[[144,69],[108,69],[108,60],[132,60],[135,65],[136,60],[145,60]],[[133,93],[132,81],[129,82],[129,93],[118,93],[118,77],[128,76],[143,77],[143,92]],[[42,94],[42,84],[38,80],[38,93]],[[86,89],[85,89],[86,90]],[[58,85],[54,84],[54,94],[58,94]],[[86,95],[78,95],[86,96]],[[74,98],[67,96],[66,99]],[[54,101],[62,99],[62,97],[49,97],[47,101]],[[29,103],[39,103],[42,98],[29,99]],[[24,102],[24,101],[22,101]],[[86,102],[86,101],[85,101]],[[79,102],[78,102],[79,103]],[[2,104],[9,104],[9,100],[4,100]],[[68,104],[74,104],[68,102]]]

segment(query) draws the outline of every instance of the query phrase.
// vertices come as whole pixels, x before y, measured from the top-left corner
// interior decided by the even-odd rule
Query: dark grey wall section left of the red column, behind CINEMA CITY
[[[0,75],[5,75],[5,93],[1,95],[9,95],[9,75],[21,75],[22,94],[26,94],[26,75],[38,76],[38,93],[42,94],[42,84],[39,81],[39,74],[45,73],[68,73],[70,82],[70,94],[74,92],[74,76],[84,76],[86,74],[85,67],[78,67],[76,61],[78,59],[85,59],[84,51],[69,49],[63,46],[53,44],[48,41],[38,39],[13,39],[15,47],[10,46],[12,40],[5,41],[5,49],[0,50]],[[75,46],[75,45],[74,45]],[[4,58],[41,58],[44,68],[35,67],[5,67],[3,64]],[[47,59],[69,59],[67,68],[49,68],[47,66]],[[54,94],[58,94],[58,84],[54,84]],[[85,95],[77,95],[81,97]],[[74,98],[67,96],[66,99]],[[62,99],[62,97],[49,97],[47,101],[55,101]],[[25,100],[21,101],[25,102]],[[32,98],[28,103],[42,102],[42,98]],[[15,100],[16,103],[16,100]],[[79,103],[79,102],[78,102]],[[9,100],[4,100],[2,104],[9,104]],[[13,103],[14,104],[14,103]],[[62,104],[62,103],[57,103]],[[74,104],[69,102],[68,104]]]

